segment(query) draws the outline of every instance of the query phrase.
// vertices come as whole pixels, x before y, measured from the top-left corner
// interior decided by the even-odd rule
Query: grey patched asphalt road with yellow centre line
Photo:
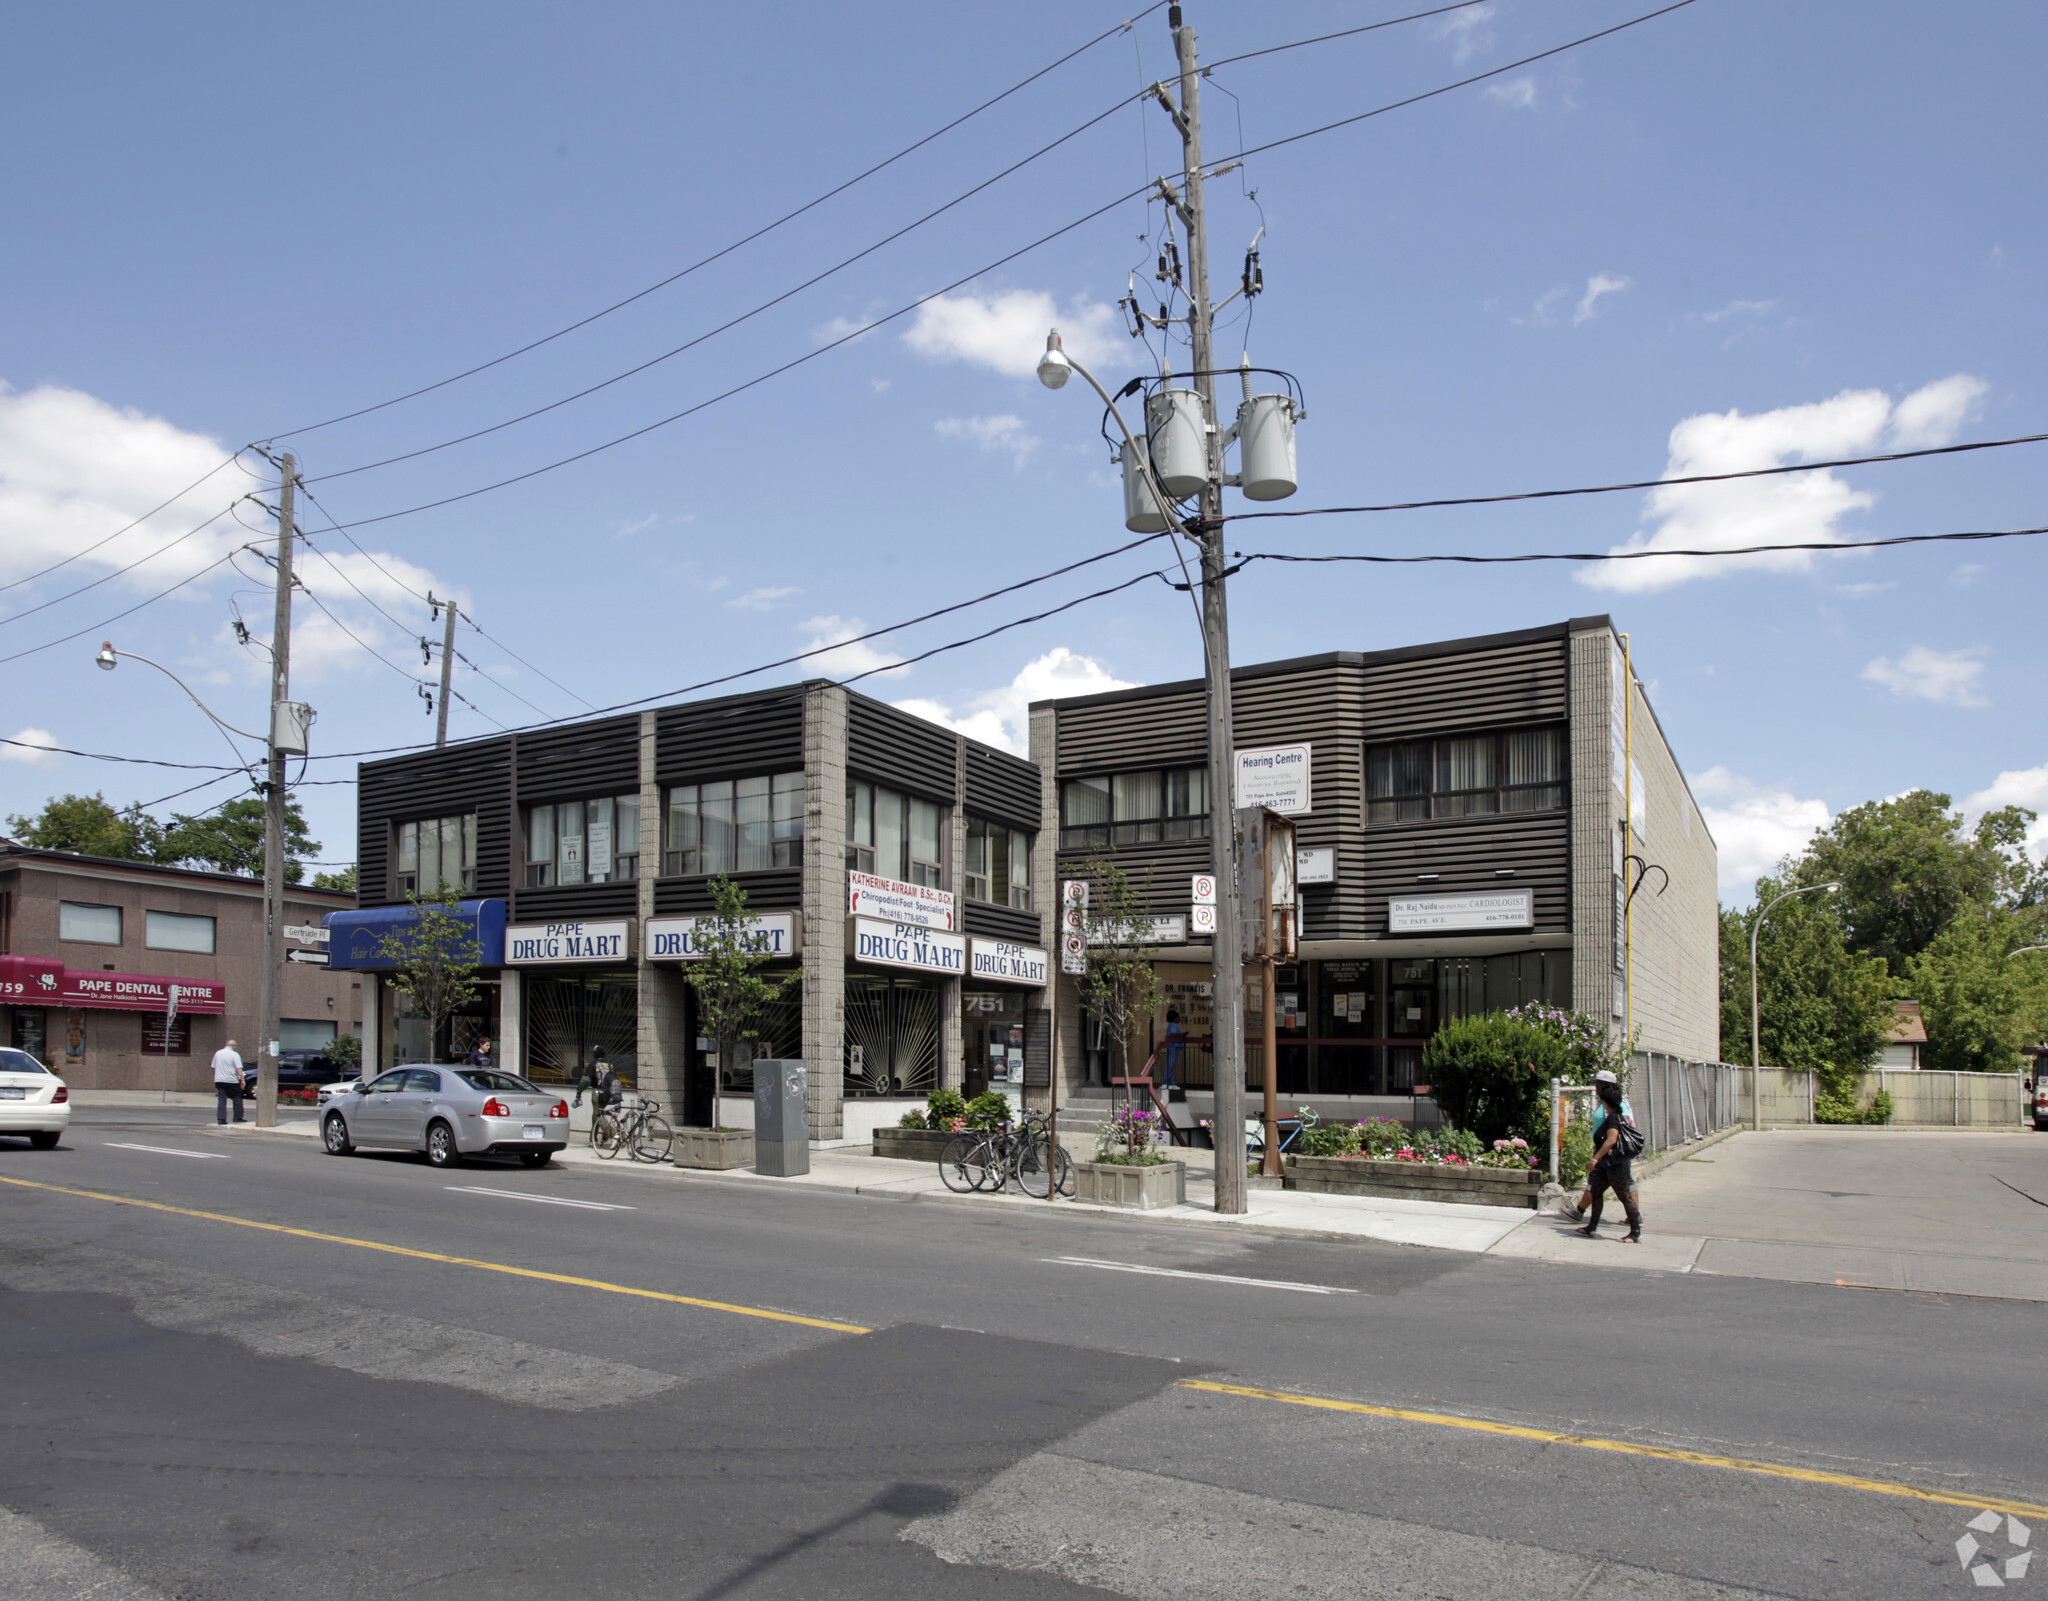
[[[2048,1583],[2005,1581],[2048,1521],[2030,1302],[180,1110],[0,1179],[4,1601],[1921,1597],[1982,1589],[1964,1535]]]

